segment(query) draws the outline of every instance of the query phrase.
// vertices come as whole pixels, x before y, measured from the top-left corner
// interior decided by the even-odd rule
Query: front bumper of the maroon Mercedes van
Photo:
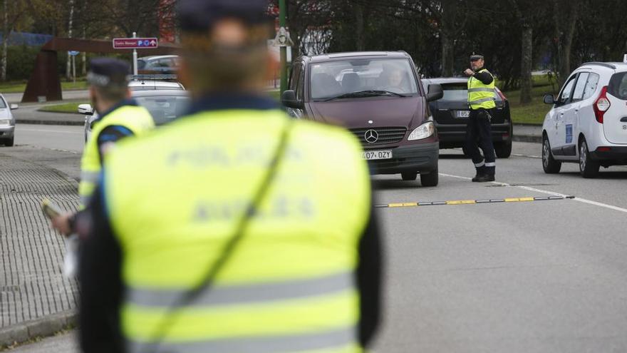
[[[371,174],[431,173],[437,169],[437,158],[440,156],[440,144],[437,142],[400,145],[391,150],[391,159],[368,160]]]

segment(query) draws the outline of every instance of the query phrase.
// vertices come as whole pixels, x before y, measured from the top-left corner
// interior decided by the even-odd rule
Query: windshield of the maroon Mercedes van
[[[407,59],[355,59],[311,66],[311,99],[325,100],[362,91],[418,93]]]

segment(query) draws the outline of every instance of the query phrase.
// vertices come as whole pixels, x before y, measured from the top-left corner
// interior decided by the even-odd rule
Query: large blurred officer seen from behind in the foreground
[[[266,0],[180,0],[187,116],[108,155],[86,352],[361,352],[380,245],[361,145],[264,96]]]

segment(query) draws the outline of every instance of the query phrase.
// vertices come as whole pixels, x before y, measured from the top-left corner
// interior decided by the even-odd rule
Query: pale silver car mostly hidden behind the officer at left
[[[190,96],[184,90],[140,90],[133,91],[132,96],[140,106],[150,111],[156,126],[164,125],[181,116],[190,103]],[[93,124],[98,120],[98,113],[94,113],[89,104],[78,106],[78,113],[86,115],[85,142],[87,142]]]

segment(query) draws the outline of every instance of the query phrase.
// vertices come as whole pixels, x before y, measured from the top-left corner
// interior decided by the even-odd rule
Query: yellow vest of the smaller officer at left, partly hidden
[[[98,135],[108,126],[124,126],[133,135],[142,135],[155,126],[152,116],[141,106],[121,106],[94,124],[90,138],[87,140],[81,158],[81,183],[78,184],[80,208],[84,208],[100,178],[100,152],[98,151]]]

